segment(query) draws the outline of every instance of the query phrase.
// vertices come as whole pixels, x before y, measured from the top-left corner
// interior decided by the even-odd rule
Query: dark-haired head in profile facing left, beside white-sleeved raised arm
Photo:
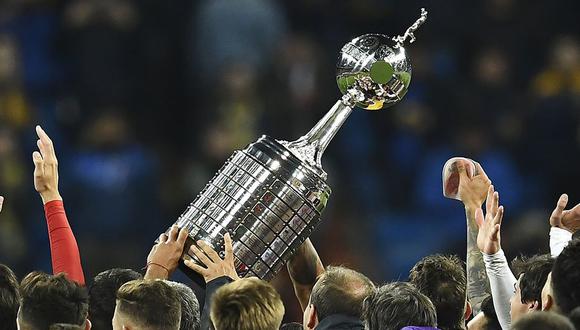
[[[542,287],[553,265],[554,259],[547,254],[514,260],[512,269],[517,274],[518,281],[511,299],[512,322],[526,313],[542,309]]]

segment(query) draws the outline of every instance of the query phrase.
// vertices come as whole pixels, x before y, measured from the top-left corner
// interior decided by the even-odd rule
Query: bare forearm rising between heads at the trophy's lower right
[[[324,265],[310,239],[307,239],[298,248],[294,257],[288,262],[287,267],[296,298],[298,298],[300,307],[304,311],[308,306],[310,293],[318,276],[324,273]]]

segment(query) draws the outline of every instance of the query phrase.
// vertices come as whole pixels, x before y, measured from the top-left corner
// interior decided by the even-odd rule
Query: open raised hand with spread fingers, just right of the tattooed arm
[[[479,227],[477,247],[485,254],[495,254],[501,249],[500,230],[504,209],[499,206],[499,194],[493,186],[489,186],[485,208],[485,217],[481,208],[475,211],[475,222]]]

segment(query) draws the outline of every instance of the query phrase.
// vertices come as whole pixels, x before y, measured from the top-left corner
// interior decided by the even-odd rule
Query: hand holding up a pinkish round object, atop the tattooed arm
[[[486,193],[491,185],[491,180],[483,171],[479,163],[475,163],[476,170],[472,178],[467,175],[465,163],[457,162],[457,171],[459,172],[459,189],[457,196],[463,202],[466,208],[480,208],[485,201]]]

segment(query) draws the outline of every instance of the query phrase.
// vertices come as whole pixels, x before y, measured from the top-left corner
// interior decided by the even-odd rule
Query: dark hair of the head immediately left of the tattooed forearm
[[[411,269],[409,282],[435,305],[439,329],[465,327],[467,279],[457,256],[435,254],[421,259]]]

